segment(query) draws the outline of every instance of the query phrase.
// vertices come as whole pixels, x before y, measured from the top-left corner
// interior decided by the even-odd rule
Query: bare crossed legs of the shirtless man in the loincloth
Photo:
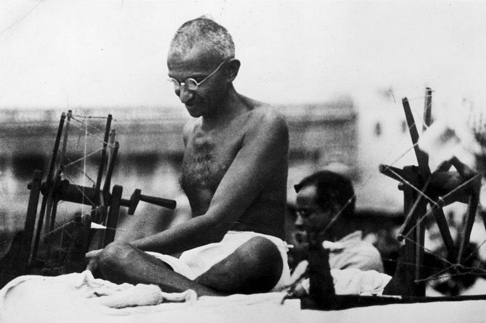
[[[193,289],[198,296],[268,292],[283,268],[277,246],[263,237],[251,238],[194,280],[125,242],[107,245],[98,264],[103,276],[114,283],[156,284],[164,292]]]

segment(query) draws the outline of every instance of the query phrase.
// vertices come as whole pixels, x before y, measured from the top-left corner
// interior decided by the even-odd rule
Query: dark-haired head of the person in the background
[[[352,231],[355,192],[349,178],[323,170],[304,178],[294,187],[298,229],[307,232],[327,229],[328,239],[340,239]]]

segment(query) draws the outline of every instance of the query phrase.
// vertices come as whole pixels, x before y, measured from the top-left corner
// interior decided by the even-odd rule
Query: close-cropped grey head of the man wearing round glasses
[[[167,57],[175,93],[193,117],[210,116],[227,98],[238,75],[235,44],[225,27],[211,19],[185,22]],[[192,80],[190,80],[192,79]]]

